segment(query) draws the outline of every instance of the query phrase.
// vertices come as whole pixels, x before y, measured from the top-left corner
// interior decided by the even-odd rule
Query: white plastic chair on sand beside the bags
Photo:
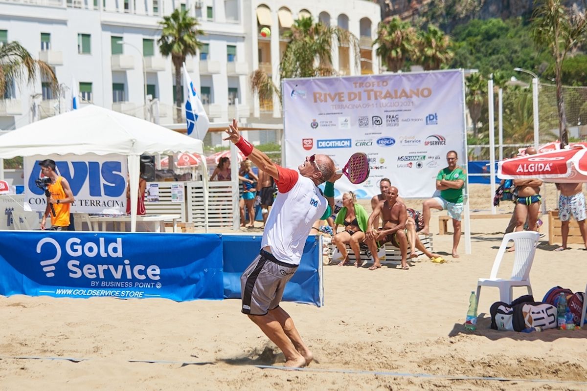
[[[534,231],[512,232],[504,235],[501,241],[500,249],[497,251],[493,267],[491,268],[491,275],[489,278],[479,278],[477,280],[477,304],[479,304],[479,295],[481,294],[481,287],[497,287],[500,289],[500,301],[512,302],[513,287],[527,287],[528,294],[532,294],[532,286],[530,285],[530,268],[534,261],[534,254],[538,239],[540,235]],[[508,242],[514,242],[514,267],[509,280],[497,278],[497,271],[500,268],[501,260],[505,254],[505,247]]]

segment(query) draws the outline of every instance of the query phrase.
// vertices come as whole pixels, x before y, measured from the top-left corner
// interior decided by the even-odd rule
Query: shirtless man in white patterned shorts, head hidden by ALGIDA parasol
[[[579,225],[579,232],[583,237],[583,244],[587,250],[587,232],[585,230],[585,196],[583,195],[583,183],[556,183],[556,188],[561,192],[558,198],[558,219],[561,220],[562,246],[555,251],[567,250],[566,240],[569,237],[569,222],[571,215],[575,217]]]

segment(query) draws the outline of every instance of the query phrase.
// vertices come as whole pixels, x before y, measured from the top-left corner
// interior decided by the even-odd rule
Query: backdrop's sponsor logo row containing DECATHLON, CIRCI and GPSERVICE
[[[413,147],[419,145],[425,145],[427,147],[436,147],[438,145],[446,145],[446,138],[440,134],[431,134],[426,139],[421,140],[416,136],[401,136],[398,138],[399,144],[404,147]],[[302,147],[306,151],[312,148],[351,148],[351,147],[372,147],[377,145],[379,147],[387,148],[396,145],[396,141],[393,137],[379,137],[375,138],[361,138],[352,140],[350,138],[329,138],[316,140],[314,144],[313,138],[302,138]]]

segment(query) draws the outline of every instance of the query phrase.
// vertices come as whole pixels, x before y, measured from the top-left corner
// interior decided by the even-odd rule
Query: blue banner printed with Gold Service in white
[[[217,234],[0,232],[0,295],[222,299]]]

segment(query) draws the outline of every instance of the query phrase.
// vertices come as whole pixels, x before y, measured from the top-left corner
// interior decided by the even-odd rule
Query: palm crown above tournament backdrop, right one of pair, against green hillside
[[[416,62],[424,70],[440,69],[440,66],[450,62],[454,57],[451,50],[450,37],[434,25],[428,26],[428,31],[419,31],[416,38]]]

